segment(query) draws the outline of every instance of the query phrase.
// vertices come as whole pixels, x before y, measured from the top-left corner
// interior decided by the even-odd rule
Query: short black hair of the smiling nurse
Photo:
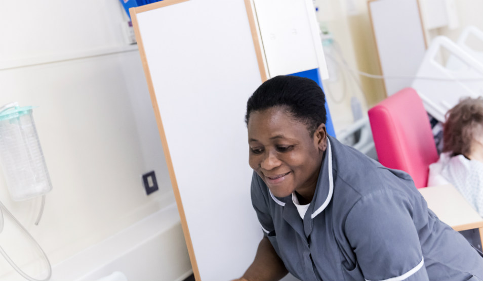
[[[315,81],[298,76],[275,76],[263,82],[248,99],[245,122],[250,114],[271,107],[286,108],[296,119],[307,125],[310,135],[326,123],[326,98]]]

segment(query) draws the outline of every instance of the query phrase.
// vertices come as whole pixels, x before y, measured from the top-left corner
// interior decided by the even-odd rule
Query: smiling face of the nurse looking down
[[[254,111],[248,122],[248,142],[250,167],[273,195],[286,197],[297,191],[312,199],[327,146],[324,124],[310,137],[307,126],[283,108]]]

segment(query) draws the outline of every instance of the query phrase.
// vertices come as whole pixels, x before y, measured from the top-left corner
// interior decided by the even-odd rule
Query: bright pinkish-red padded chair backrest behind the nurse
[[[438,160],[429,117],[418,93],[405,88],[368,112],[379,162],[427,186],[429,164]]]

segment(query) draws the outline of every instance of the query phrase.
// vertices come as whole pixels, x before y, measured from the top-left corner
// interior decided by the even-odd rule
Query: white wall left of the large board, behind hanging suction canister
[[[0,1],[0,10],[0,106],[39,106],[53,184],[38,226],[39,199],[13,202],[3,173],[0,201],[56,264],[172,204],[171,182],[118,0]],[[140,176],[151,170],[159,191],[146,196]],[[37,256],[29,245],[7,218],[0,246],[22,265]],[[0,257],[0,279],[22,279],[11,271]]]

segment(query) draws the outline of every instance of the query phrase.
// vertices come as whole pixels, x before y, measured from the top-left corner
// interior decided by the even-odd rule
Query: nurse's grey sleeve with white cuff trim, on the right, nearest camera
[[[344,229],[366,280],[428,280],[413,215],[407,195],[388,190],[354,204]]]

